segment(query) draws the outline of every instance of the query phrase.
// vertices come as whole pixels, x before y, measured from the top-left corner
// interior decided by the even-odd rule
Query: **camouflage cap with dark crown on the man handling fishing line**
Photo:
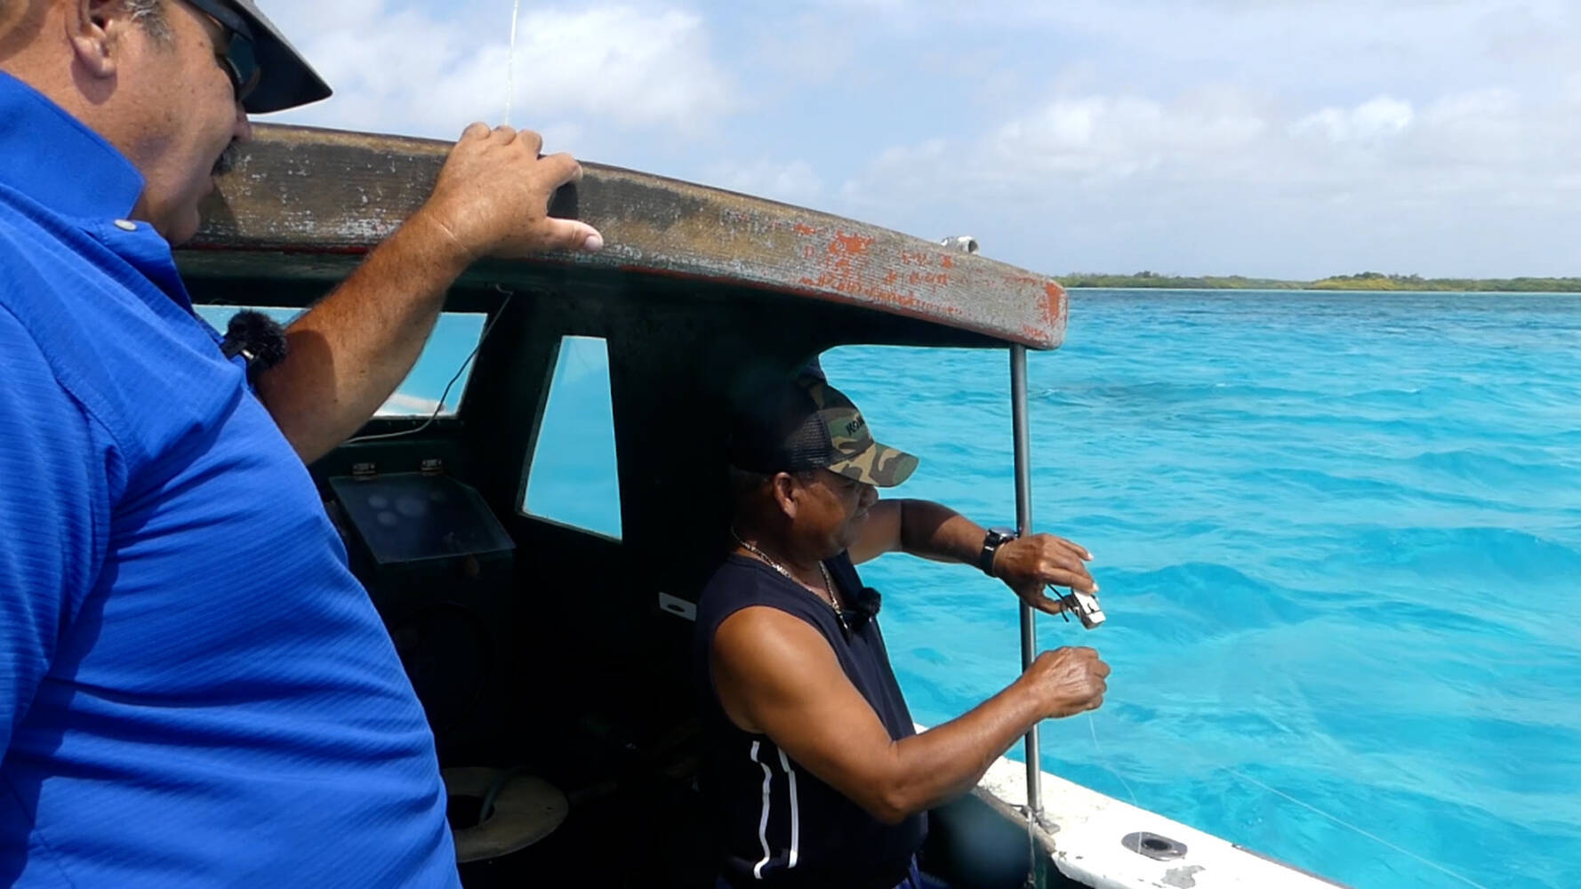
[[[765,381],[740,395],[729,456],[738,470],[825,468],[877,487],[895,487],[917,468],[917,457],[873,440],[851,399],[811,375]]]

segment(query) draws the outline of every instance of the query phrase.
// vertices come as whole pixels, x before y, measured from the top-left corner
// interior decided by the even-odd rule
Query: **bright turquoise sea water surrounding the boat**
[[[574,484],[610,471],[601,361],[563,351],[557,411],[590,413],[530,501],[618,533]],[[824,367],[922,457],[896,495],[1013,524],[1006,353]],[[1094,552],[1108,614],[1040,637],[1115,668],[1045,769],[1358,887],[1581,886],[1581,297],[1075,293],[1031,394],[1037,527]],[[920,721],[1015,679],[1002,585],[865,574]]]

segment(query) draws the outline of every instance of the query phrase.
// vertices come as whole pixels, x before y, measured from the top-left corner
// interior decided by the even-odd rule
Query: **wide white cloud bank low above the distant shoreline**
[[[975,138],[879,152],[843,210],[966,226],[1055,272],[1556,274],[1581,196],[1576,111],[1510,90],[1420,111],[1387,95],[1314,111],[1249,90],[1056,95]],[[1524,264],[1545,244],[1546,263]]]

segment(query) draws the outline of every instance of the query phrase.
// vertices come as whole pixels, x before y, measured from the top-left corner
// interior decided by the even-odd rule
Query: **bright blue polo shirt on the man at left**
[[[455,886],[411,683],[141,191],[0,74],[0,886]]]

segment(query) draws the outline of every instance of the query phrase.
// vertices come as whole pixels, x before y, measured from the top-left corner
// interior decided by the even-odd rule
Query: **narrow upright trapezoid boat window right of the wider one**
[[[609,350],[563,337],[528,463],[522,514],[620,539],[620,476]]]

